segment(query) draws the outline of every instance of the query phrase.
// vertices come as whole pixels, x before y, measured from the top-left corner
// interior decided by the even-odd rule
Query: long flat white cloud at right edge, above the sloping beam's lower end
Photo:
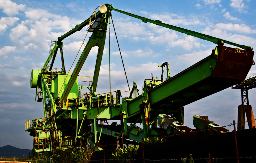
[[[224,24],[224,23],[218,23],[215,25],[216,28],[221,30],[230,30],[230,31],[237,31],[241,33],[256,33],[256,30],[252,30],[249,26],[245,24]]]

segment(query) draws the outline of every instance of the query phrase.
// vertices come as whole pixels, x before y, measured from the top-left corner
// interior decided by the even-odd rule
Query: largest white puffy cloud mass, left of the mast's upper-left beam
[[[55,40],[81,22],[49,13],[43,9],[25,11],[25,15],[28,19],[18,24],[9,34],[20,52],[27,51],[30,47],[48,49],[50,40]],[[81,37],[81,33],[79,36],[73,35],[72,37],[76,36]]]

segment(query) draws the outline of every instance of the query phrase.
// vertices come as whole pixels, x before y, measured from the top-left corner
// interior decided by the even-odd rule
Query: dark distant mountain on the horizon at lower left
[[[10,145],[0,147],[0,157],[5,158],[26,158],[29,155],[29,152],[31,152],[31,150],[20,149]]]

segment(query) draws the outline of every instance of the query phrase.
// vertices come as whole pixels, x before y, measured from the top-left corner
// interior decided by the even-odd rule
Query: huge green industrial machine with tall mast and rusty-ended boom
[[[116,90],[97,93],[111,11],[205,39],[217,46],[208,57],[175,76],[170,77],[167,62],[160,65],[162,70],[166,66],[167,79],[145,79],[143,93],[139,96],[135,82],[131,92]],[[87,31],[92,32],[92,35],[72,74],[67,74],[61,41],[88,25]],[[140,17],[115,9],[109,4],[101,6],[98,12],[95,10],[94,15],[52,43],[55,43],[54,47],[42,69],[31,72],[30,87],[36,88],[36,101],[43,102],[44,109],[43,118],[26,122],[26,131],[34,137],[34,155],[54,152],[56,147],[78,146],[80,143],[89,143],[95,150],[102,150],[103,145],[108,145],[105,148],[113,148],[109,144],[116,144],[116,138],[123,139],[124,143],[135,144],[141,142],[142,138],[182,135],[180,133],[199,136],[228,132],[209,121],[206,116],[194,116],[196,129],[184,126],[184,106],[240,83],[254,64],[252,47]],[[226,47],[224,43],[243,50]],[[94,46],[99,47],[94,75],[79,76]],[[58,50],[62,68],[53,69]],[[87,89],[85,87],[88,92],[81,93],[83,88]],[[138,124],[142,124],[141,128]]]

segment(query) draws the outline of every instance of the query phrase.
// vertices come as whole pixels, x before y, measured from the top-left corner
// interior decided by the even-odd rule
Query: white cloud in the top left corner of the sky
[[[26,5],[17,5],[9,0],[0,0],[0,8],[3,8],[3,12],[8,16],[19,14],[19,10],[24,10]]]

